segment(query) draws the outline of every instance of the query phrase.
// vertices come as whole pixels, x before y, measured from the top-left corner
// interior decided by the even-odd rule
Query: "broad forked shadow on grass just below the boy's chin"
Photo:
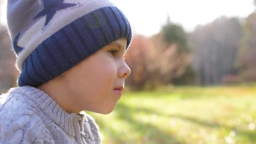
[[[157,114],[155,113],[155,111],[150,109],[137,109],[133,107],[128,107],[123,103],[119,103],[115,107],[117,118],[129,123],[135,131],[141,134],[141,139],[139,140],[140,142],[142,142],[143,144],[185,144],[185,142],[175,139],[173,134],[171,134],[170,132],[161,130],[160,128],[157,128],[155,125],[152,125],[150,123],[143,123],[141,121],[135,120],[132,115],[139,111],[151,113],[152,115]],[[99,125],[101,125],[102,127],[108,127],[106,123],[103,123],[100,120],[97,121],[97,123],[99,123]],[[107,129],[107,131],[109,131],[111,135],[114,136],[113,139],[115,139],[115,142],[117,142],[118,144],[138,143],[138,140],[123,140],[120,136],[120,133],[112,130],[111,128]]]

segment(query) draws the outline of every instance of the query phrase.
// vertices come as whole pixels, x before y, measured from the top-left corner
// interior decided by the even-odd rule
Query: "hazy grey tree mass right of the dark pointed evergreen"
[[[239,19],[225,16],[198,26],[190,34],[198,85],[219,84],[225,76],[236,72],[234,63],[241,38]]]

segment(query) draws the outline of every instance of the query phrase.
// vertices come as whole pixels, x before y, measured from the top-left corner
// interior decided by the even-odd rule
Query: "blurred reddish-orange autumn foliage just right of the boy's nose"
[[[172,83],[173,78],[184,74],[191,59],[191,54],[180,51],[178,44],[165,43],[162,35],[135,35],[126,55],[131,68],[127,83],[135,90]]]

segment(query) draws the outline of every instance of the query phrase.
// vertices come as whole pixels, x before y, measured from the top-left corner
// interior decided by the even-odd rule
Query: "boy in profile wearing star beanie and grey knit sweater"
[[[120,99],[132,30],[109,0],[8,0],[21,74],[0,96],[2,144],[99,144],[93,118]]]

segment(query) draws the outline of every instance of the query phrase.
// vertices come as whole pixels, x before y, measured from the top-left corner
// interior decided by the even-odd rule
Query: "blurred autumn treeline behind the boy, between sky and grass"
[[[0,25],[0,89],[16,86],[19,72],[6,27]],[[167,18],[158,34],[134,34],[125,61],[133,90],[158,85],[218,85],[256,81],[256,13],[221,16],[193,32]]]

